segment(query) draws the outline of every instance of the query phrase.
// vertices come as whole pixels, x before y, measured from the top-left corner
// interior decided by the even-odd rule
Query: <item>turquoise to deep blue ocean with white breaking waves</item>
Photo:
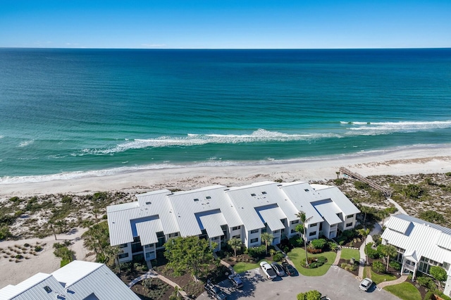
[[[451,142],[451,49],[0,49],[0,182]]]

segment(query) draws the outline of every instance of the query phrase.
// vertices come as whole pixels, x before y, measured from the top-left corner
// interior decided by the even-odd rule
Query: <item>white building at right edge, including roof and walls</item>
[[[447,271],[445,294],[451,296],[451,229],[411,217],[393,215],[385,225],[382,243],[395,246],[395,260],[402,265],[402,273],[429,274],[436,265]]]

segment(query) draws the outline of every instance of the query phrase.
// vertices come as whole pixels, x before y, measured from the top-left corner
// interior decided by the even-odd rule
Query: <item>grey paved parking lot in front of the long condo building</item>
[[[266,279],[264,273],[259,268],[249,270],[242,274],[244,287],[234,289],[228,280],[221,282],[220,287],[227,294],[227,299],[296,299],[300,292],[307,292],[316,289],[323,296],[328,296],[331,300],[392,300],[398,299],[389,292],[378,290],[375,285],[364,292],[359,289],[359,281],[354,275],[342,270],[342,268],[330,268],[326,275],[321,277],[307,277],[297,275],[294,277],[277,277],[274,280]],[[204,292],[197,299],[209,299]]]

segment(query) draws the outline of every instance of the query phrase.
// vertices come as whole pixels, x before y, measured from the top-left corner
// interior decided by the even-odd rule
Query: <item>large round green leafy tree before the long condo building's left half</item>
[[[190,273],[197,278],[214,261],[211,248],[215,245],[210,247],[208,240],[197,236],[176,237],[168,240],[164,247],[164,256],[168,258],[168,267],[174,275]]]

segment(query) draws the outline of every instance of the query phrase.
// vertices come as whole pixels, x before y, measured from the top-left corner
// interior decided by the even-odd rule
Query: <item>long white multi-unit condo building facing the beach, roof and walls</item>
[[[307,240],[320,235],[336,237],[352,229],[359,213],[337,187],[307,182],[259,182],[243,187],[214,185],[185,192],[163,189],[137,194],[137,201],[108,206],[112,246],[121,246],[119,261],[142,254],[156,258],[156,251],[173,237],[197,235],[221,249],[228,239],[245,246],[261,245],[261,234],[273,235],[273,244],[297,235],[297,213],[307,216]]]

